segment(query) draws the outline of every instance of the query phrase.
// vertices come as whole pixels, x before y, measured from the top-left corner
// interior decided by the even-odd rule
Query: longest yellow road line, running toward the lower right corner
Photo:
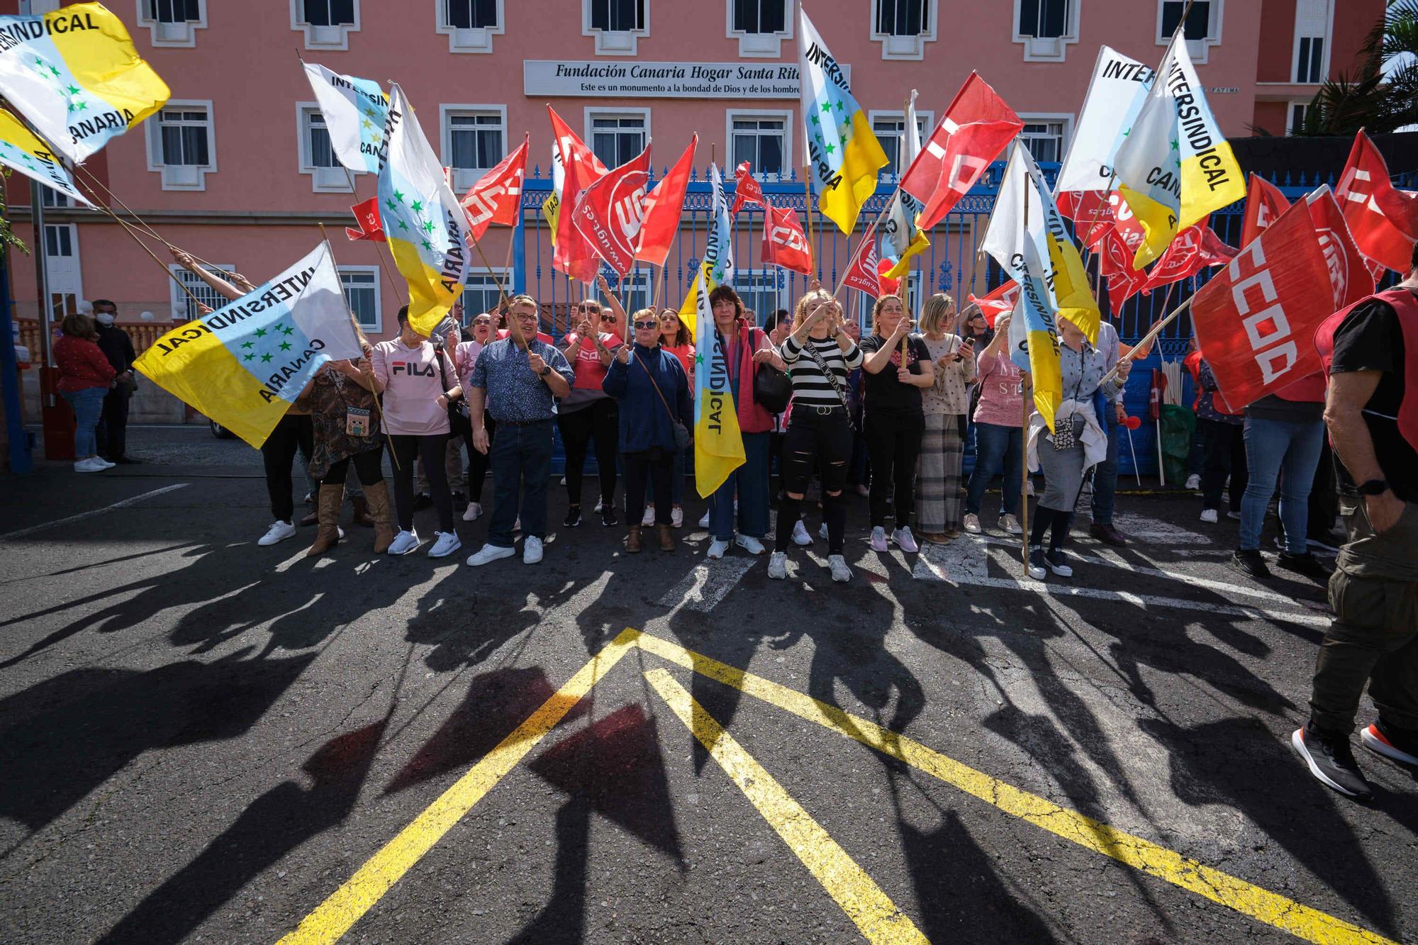
[[[1242,915],[1249,915],[1310,942],[1397,945],[1397,942],[1358,925],[1288,900],[1150,840],[1116,830],[1038,795],[1020,790],[968,765],[946,758],[905,735],[898,735],[865,718],[844,712],[835,705],[828,705],[763,677],[693,653],[676,643],[640,631],[627,633],[634,633],[634,643],[647,653],[654,653],[669,663],[776,705],[784,712],[817,722],[839,735],[875,748],[1035,827],[1166,880],[1188,892],[1202,895],[1212,902],[1219,902]],[[623,633],[621,637],[624,636]]]

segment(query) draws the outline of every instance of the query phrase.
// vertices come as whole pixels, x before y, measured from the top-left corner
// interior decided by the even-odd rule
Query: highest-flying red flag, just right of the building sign
[[[923,204],[917,226],[929,230],[950,213],[1022,128],[1014,109],[971,72],[900,177],[900,189]]]

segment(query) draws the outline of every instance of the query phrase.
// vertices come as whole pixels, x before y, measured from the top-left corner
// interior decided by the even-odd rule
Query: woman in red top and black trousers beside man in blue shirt
[[[557,404],[556,427],[562,431],[562,447],[566,450],[566,528],[581,524],[581,477],[586,453],[596,440],[596,467],[601,484],[601,524],[617,525],[615,518],[615,453],[620,438],[620,419],[615,399],[601,389],[605,370],[615,352],[624,345],[625,312],[615,294],[610,291],[605,278],[598,280],[601,291],[611,299],[610,305],[593,298],[571,304],[574,331],[566,336],[562,350],[571,362],[576,383],[571,396]]]

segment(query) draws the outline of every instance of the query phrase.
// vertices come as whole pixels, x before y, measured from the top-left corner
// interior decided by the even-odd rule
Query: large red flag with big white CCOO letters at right
[[[1231,411],[1320,369],[1313,338],[1332,305],[1324,253],[1300,203],[1193,299],[1201,355]]]

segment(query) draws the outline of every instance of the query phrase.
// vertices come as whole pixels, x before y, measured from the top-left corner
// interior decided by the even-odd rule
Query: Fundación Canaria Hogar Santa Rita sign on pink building
[[[529,98],[798,98],[797,62],[523,60],[522,84]]]

